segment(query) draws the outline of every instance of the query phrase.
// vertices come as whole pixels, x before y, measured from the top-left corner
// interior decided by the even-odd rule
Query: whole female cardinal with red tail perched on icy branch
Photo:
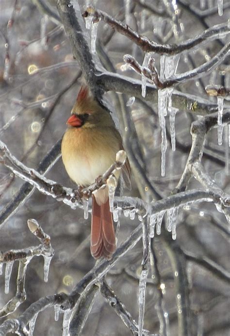
[[[114,162],[123,149],[121,136],[110,114],[81,87],[62,140],[62,159],[69,177],[78,185],[88,186]],[[130,187],[128,159],[122,167],[124,181]],[[116,176],[118,177],[118,176]],[[108,186],[93,195],[90,251],[95,259],[111,259],[115,252],[115,232],[109,207]]]

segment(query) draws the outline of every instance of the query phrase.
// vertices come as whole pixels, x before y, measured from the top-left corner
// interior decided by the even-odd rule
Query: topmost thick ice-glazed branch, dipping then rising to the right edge
[[[95,19],[102,20],[109,24],[111,28],[115,29],[120,34],[127,36],[132,42],[138,45],[145,52],[156,52],[159,54],[175,55],[183,51],[193,50],[201,44],[212,41],[219,38],[220,35],[226,35],[230,33],[228,23],[216,25],[207,29],[202,34],[197,35],[181,44],[161,45],[148,39],[146,36],[141,36],[133,31],[127,24],[116,20],[105,12],[95,9],[92,6],[88,6],[86,11],[82,14],[83,17],[93,16]]]

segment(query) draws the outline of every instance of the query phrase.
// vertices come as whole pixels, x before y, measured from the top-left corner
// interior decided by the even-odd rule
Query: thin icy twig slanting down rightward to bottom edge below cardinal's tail
[[[131,317],[131,314],[127,310],[126,306],[120,299],[116,296],[113,289],[107,284],[106,281],[102,281],[100,286],[101,295],[109,302],[110,306],[115,310],[115,313],[120,317],[120,319],[125,323],[125,325],[130,329],[133,335],[138,334],[138,325],[135,320]],[[149,331],[143,329],[143,334],[145,336],[153,336]]]

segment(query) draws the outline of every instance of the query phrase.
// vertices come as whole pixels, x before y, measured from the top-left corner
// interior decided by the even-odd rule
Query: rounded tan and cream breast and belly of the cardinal
[[[119,136],[111,127],[70,128],[63,137],[62,159],[76,184],[90,185],[114,163],[119,149]]]

